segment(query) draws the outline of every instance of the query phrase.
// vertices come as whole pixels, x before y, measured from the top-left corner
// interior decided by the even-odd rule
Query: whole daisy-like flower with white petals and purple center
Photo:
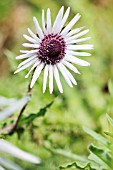
[[[29,50],[20,50],[23,54],[16,57],[16,59],[25,60],[19,64],[15,73],[18,73],[33,65],[28,74],[25,76],[25,78],[27,78],[29,74],[34,71],[30,88],[34,86],[40,73],[44,69],[43,93],[46,91],[48,77],[50,93],[53,92],[53,77],[56,80],[59,91],[63,93],[59,71],[66,80],[67,84],[70,87],[73,87],[73,84],[77,85],[77,82],[68,69],[80,74],[78,69],[73,64],[80,66],[90,65],[87,61],[75,57],[91,55],[90,53],[80,51],[93,49],[93,45],[91,44],[80,44],[81,42],[90,39],[90,37],[80,38],[88,33],[89,30],[87,29],[81,31],[84,27],[75,28],[72,30],[72,27],[81,17],[79,13],[75,15],[67,26],[64,27],[70,13],[70,7],[67,8],[64,14],[63,13],[64,7],[62,6],[52,26],[50,9],[47,9],[46,22],[44,19],[44,10],[42,10],[42,29],[36,17],[33,17],[36,34],[28,28],[30,36],[25,34],[23,36],[30,43],[24,43],[23,46],[27,47]]]

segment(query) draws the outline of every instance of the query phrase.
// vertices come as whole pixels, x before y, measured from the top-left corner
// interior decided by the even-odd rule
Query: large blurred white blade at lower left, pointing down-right
[[[15,145],[3,139],[0,139],[0,152],[8,153],[21,160],[32,162],[34,164],[39,164],[41,162],[40,158],[17,148]]]

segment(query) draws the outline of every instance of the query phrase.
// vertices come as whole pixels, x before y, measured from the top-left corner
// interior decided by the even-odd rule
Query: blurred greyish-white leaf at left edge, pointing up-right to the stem
[[[19,108],[22,108],[25,106],[29,100],[31,99],[30,96],[25,96],[22,99],[12,103],[8,108],[5,108],[4,110],[0,111],[0,121],[6,119],[7,117],[14,114]]]

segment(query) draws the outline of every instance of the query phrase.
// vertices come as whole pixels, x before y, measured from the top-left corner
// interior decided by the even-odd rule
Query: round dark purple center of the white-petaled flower
[[[58,34],[49,34],[40,43],[38,58],[46,64],[56,64],[65,56],[66,44]]]

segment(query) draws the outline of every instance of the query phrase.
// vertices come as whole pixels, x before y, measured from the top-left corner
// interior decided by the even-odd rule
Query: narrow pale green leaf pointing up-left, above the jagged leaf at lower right
[[[105,145],[106,147],[109,146],[109,141],[104,138],[103,136],[101,136],[100,134],[94,132],[93,130],[89,129],[89,128],[86,128],[84,127],[83,130],[89,134],[90,136],[92,136],[94,139],[96,139],[97,141],[99,141],[101,144]]]

